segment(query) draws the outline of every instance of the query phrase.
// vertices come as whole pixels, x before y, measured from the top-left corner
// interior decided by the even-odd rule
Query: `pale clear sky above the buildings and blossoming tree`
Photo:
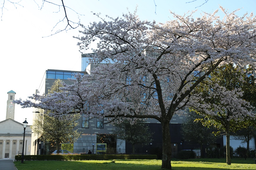
[[[35,1],[41,6],[41,0]],[[253,12],[256,6],[256,0],[208,0],[202,6],[200,5],[205,0],[190,1],[192,0],[64,0],[64,3],[83,14],[80,19],[84,25],[99,21],[91,11],[101,13],[102,17],[109,15],[116,18],[127,13],[127,8],[134,12],[136,6],[141,20],[156,22],[172,19],[169,10],[180,15],[198,10],[194,17],[200,17],[202,11],[214,12],[219,9],[220,4],[229,12],[242,8],[237,12],[237,15],[242,16],[246,12]],[[3,2],[4,0],[0,0],[0,4]],[[60,0],[52,2],[61,4]],[[16,99],[27,99],[39,89],[47,69],[81,71],[81,53],[76,45],[78,40],[73,38],[79,35],[81,28],[52,35],[65,26],[65,23],[57,25],[52,31],[55,24],[64,17],[62,9],[56,13],[59,10],[57,6],[45,3],[40,10],[34,0],[22,0],[20,4],[22,6],[16,5],[16,9],[13,4],[5,1],[6,9],[3,9],[2,21],[0,20],[0,121],[6,117],[8,91],[15,91]],[[217,14],[223,17],[220,10]],[[68,17],[77,21],[77,14],[70,10]],[[32,108],[21,109],[16,104],[15,120],[23,122],[27,118],[28,124],[32,125],[32,112]]]

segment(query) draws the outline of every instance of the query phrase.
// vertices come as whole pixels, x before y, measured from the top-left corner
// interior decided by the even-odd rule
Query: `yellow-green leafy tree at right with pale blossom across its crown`
[[[197,120],[204,126],[217,128],[219,133],[222,131],[227,137],[227,164],[231,164],[230,133],[241,128],[240,123],[255,117],[249,111],[252,106],[245,101],[246,96],[242,95],[245,77],[248,77],[248,73],[244,73],[243,69],[226,64],[213,71],[194,91],[199,103],[192,108],[204,116]]]

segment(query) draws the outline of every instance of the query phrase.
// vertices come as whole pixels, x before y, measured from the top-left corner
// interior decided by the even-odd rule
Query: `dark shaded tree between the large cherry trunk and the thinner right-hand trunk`
[[[199,143],[202,156],[203,145],[214,143],[217,137],[212,133],[216,129],[205,127],[201,122],[196,121],[200,118],[202,118],[202,115],[190,113],[186,122],[181,125],[181,135],[188,143]]]

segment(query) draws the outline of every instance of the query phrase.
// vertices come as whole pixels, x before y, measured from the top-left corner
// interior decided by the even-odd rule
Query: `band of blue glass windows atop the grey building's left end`
[[[69,78],[74,79],[74,75],[77,72],[65,72],[65,71],[46,71],[46,79],[62,79],[68,80]],[[84,73],[79,72],[82,76]]]

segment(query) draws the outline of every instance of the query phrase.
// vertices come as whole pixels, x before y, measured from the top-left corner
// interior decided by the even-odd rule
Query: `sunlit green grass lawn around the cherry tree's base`
[[[17,170],[159,170],[161,160],[116,160],[111,161],[15,161]],[[188,159],[173,160],[173,170],[226,170],[254,169],[255,161],[251,158],[232,159],[231,165],[225,159]]]

